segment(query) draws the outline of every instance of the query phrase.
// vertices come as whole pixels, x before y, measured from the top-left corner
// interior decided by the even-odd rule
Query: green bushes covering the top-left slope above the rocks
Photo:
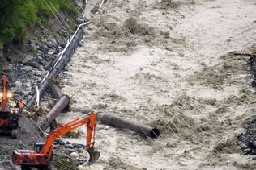
[[[71,0],[0,0],[0,47],[13,41],[23,43],[26,27],[64,10],[76,14]]]

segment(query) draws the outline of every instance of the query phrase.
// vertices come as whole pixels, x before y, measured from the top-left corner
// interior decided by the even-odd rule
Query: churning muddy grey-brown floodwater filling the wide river
[[[71,110],[123,116],[161,135],[98,125],[100,160],[79,168],[254,169],[237,142],[254,115],[248,57],[230,52],[256,49],[255,8],[254,0],[108,1],[68,64],[62,90],[83,88]],[[84,136],[70,140],[84,143]]]

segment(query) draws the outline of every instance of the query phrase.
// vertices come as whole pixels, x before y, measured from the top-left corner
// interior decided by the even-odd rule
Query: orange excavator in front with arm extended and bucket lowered
[[[100,152],[95,150],[94,139],[96,130],[96,114],[91,112],[81,118],[77,118],[65,125],[59,126],[51,131],[45,143],[35,143],[34,151],[30,150],[15,150],[12,155],[12,162],[21,165],[22,170],[37,168],[40,170],[50,169],[53,160],[53,143],[61,135],[74,130],[75,128],[87,124],[87,151],[90,155],[89,163],[93,164],[100,157]],[[93,142],[92,142],[93,137]]]

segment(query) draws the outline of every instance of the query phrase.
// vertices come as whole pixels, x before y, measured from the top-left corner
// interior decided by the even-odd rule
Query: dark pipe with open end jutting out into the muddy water
[[[83,114],[89,113],[91,110],[82,110]],[[129,129],[130,131],[135,131],[141,135],[145,135],[148,138],[157,139],[160,135],[159,129],[151,126],[143,125],[139,122],[132,122],[126,118],[121,118],[109,114],[97,113],[97,121],[103,124],[108,124],[110,126]]]

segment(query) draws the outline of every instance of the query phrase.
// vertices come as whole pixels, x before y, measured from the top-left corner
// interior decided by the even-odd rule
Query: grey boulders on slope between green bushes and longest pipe
[[[3,68],[8,73],[9,86],[16,97],[28,99],[40,85],[45,74],[58,60],[58,53],[66,47],[64,39],[29,40],[26,45],[28,52],[21,52],[19,60],[12,60]]]

